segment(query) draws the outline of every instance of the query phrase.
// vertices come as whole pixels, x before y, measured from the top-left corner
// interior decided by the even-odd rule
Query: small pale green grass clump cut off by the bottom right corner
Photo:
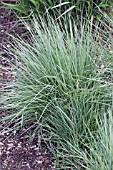
[[[108,110],[107,113],[99,116],[97,119],[98,131],[92,135],[92,141],[89,145],[90,158],[89,167],[94,170],[113,169],[113,113]]]

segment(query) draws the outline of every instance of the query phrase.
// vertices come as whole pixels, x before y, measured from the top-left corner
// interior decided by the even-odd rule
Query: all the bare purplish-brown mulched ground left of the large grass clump
[[[12,69],[8,62],[13,58],[4,52],[4,47],[9,46],[7,33],[11,32],[26,36],[25,29],[18,26],[14,13],[0,5],[0,87],[3,88],[5,82],[14,79],[9,74]],[[0,110],[2,116],[5,116],[5,112]],[[40,141],[38,135],[31,141],[30,131],[21,135],[24,130],[9,136],[8,133],[2,134],[0,129],[0,170],[55,170],[48,145]]]

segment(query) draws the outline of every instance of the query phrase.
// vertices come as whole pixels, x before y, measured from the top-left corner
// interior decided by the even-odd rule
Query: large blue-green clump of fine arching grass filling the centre
[[[12,109],[3,121],[14,123],[11,130],[43,123],[58,141],[61,168],[90,167],[87,146],[98,131],[96,120],[112,106],[113,53],[106,42],[101,46],[99,28],[92,32],[90,22],[78,30],[73,20],[64,27],[34,17],[25,26],[30,41],[13,38],[8,52],[16,79],[8,83],[14,89],[2,94],[2,109]]]

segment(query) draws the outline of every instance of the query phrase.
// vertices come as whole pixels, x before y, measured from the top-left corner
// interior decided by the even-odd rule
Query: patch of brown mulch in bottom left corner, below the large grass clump
[[[0,134],[0,170],[55,170],[48,145],[39,136],[31,140],[28,132],[18,134]]]

